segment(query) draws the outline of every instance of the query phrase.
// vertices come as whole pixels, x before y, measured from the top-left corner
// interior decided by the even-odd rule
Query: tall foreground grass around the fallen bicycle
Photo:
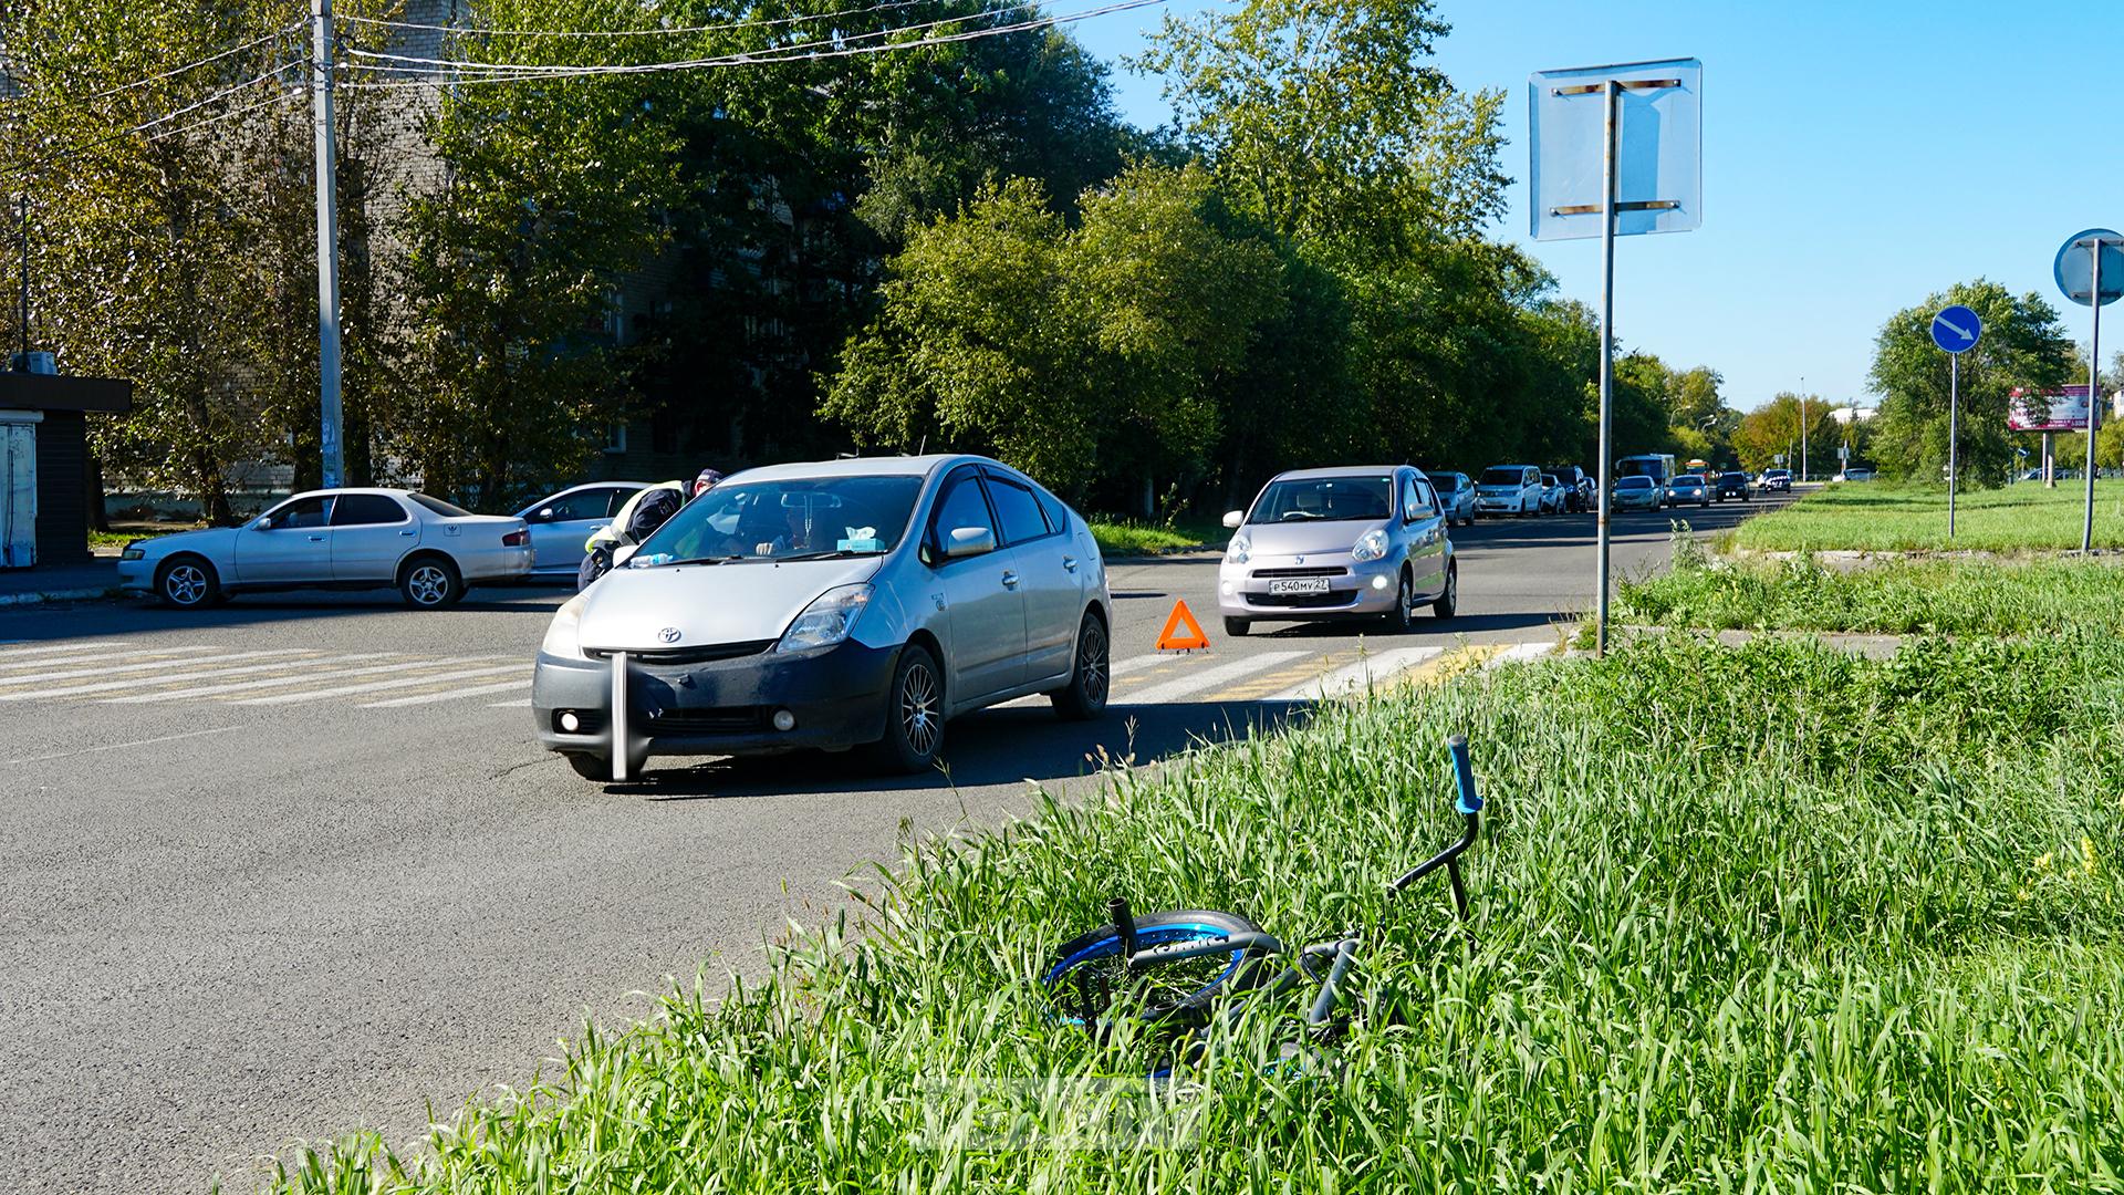
[[[353,1138],[278,1186],[2118,1189],[2118,676],[2107,636],[1890,661],[1646,636],[1328,710],[911,848],[792,929],[765,982],[673,993],[423,1148]],[[1442,891],[1383,895],[1457,829],[1449,731],[1491,800],[1474,950]],[[1143,1042],[1094,1046],[1037,982],[1109,895],[1298,940],[1383,925],[1368,1014],[1264,1067],[1300,1002],[1264,1004],[1166,1118],[1126,1095],[1175,1129],[1158,1148],[983,1095],[1141,1076]],[[994,1116],[1015,1144],[958,1133]]]

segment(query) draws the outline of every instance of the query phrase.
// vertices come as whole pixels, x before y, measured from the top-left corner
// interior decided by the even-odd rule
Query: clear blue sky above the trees
[[[1194,13],[1204,0],[1175,0]],[[1506,89],[1512,211],[1559,291],[1599,300],[1599,240],[1527,238],[1527,74],[1703,60],[1703,228],[1616,245],[1616,334],[1725,374],[1727,402],[1780,389],[1869,404],[1873,336],[1895,310],[1988,276],[2037,291],[2086,347],[2052,257],[2124,228],[2120,0],[1440,0],[1438,64]],[[1143,47],[1158,9],[1075,26],[1100,57]],[[2096,72],[2103,72],[2099,79]],[[1164,123],[1160,81],[1115,68],[1121,113]],[[2103,355],[2124,344],[2111,306]]]

